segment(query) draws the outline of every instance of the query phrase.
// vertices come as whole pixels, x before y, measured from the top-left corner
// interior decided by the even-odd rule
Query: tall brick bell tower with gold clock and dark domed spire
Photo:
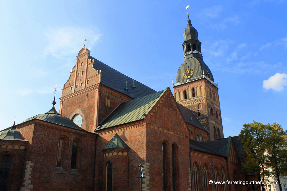
[[[177,71],[177,82],[172,84],[176,101],[193,111],[209,131],[209,141],[223,138],[218,85],[203,62],[201,42],[197,30],[187,20],[183,32],[183,63]]]

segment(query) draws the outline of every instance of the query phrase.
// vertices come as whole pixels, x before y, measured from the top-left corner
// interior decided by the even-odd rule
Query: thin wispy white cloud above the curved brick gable
[[[83,47],[84,39],[87,39],[86,47],[90,48],[100,37],[99,32],[82,27],[50,28],[45,35],[48,40],[45,54],[57,57],[75,54],[80,47]]]

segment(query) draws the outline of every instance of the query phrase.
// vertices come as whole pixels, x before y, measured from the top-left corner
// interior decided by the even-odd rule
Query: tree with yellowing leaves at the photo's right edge
[[[287,142],[286,134],[278,123],[268,124],[267,134],[267,167],[272,169],[272,174],[278,180],[280,190],[280,176],[287,175]]]

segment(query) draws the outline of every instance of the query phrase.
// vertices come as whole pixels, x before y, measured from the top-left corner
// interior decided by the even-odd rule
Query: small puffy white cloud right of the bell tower
[[[282,91],[284,86],[287,86],[287,74],[284,73],[276,73],[274,76],[269,77],[268,80],[263,80],[263,87],[265,89]]]

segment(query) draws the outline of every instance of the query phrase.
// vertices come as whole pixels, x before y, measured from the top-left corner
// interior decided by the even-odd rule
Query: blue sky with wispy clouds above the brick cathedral
[[[218,82],[224,136],[287,129],[287,1],[0,1],[0,129],[47,112],[87,39],[91,55],[160,91],[183,62],[187,11]],[[175,82],[175,80],[174,80]]]

